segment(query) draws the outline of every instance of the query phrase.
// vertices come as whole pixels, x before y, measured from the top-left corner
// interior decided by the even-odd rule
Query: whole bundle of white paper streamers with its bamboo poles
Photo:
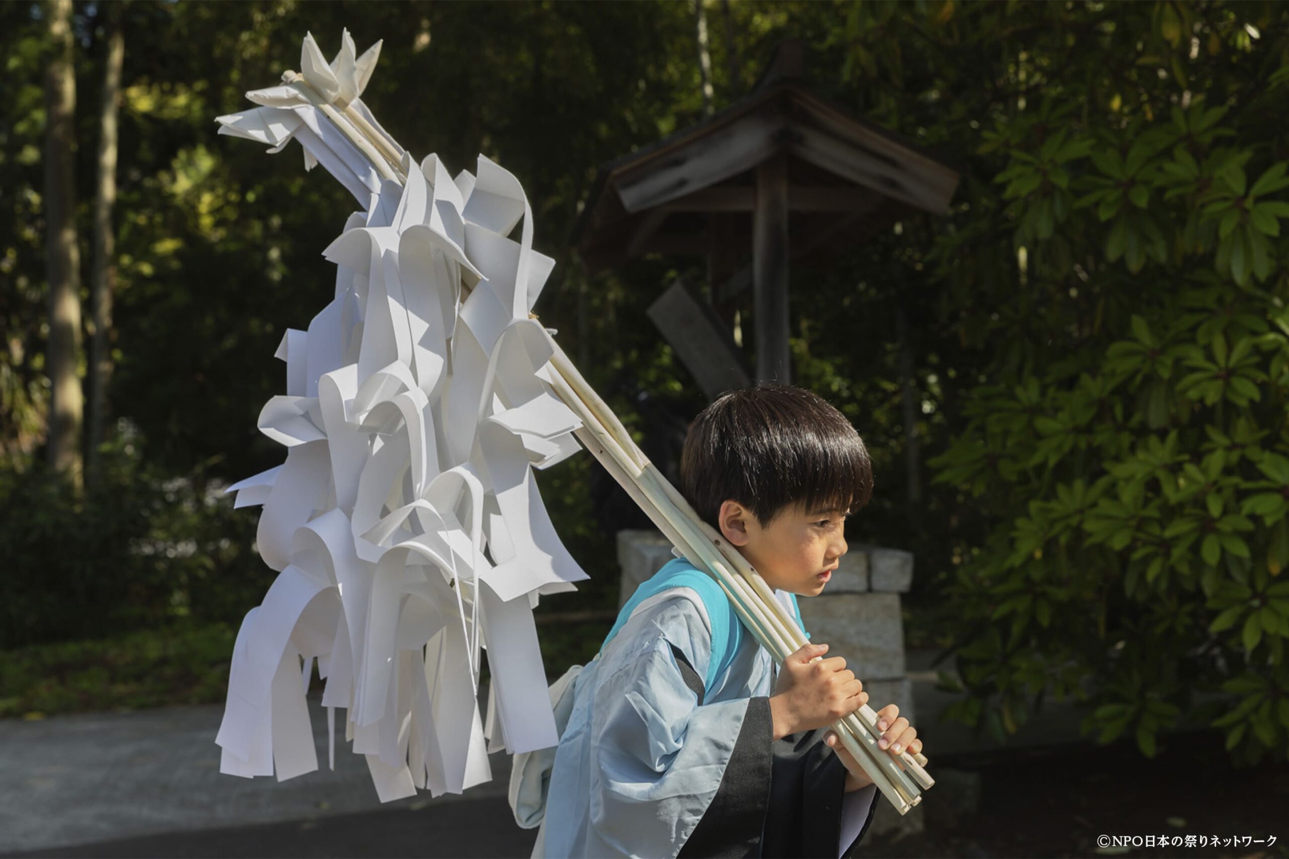
[[[433,155],[418,164],[362,103],[379,48],[357,57],[345,32],[326,63],[309,35],[303,75],[218,118],[222,134],[271,152],[298,140],[305,167],[321,164],[362,211],[324,251],[336,265],[331,303],[277,350],[286,394],[259,429],[286,461],[229,489],[237,506],[263,505],[258,547],[278,576],[237,635],[215,742],[223,773],[316,770],[304,698],[316,659],[331,765],[339,707],[389,801],[459,793],[491,778],[489,752],[558,742],[532,608],[586,576],[532,471],[581,444],[717,578],[776,659],[804,637],[531,316],[554,263],[532,249],[518,179],[482,156],[456,176]],[[932,782],[913,756],[901,768],[877,750],[874,721],[865,707],[839,735],[902,813]]]

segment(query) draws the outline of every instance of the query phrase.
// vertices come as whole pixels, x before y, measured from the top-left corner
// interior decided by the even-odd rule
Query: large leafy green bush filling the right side
[[[931,255],[993,341],[932,460],[986,524],[944,594],[950,713],[1005,735],[1072,697],[1147,756],[1190,719],[1285,756],[1289,164],[1259,121],[1289,102],[1289,42],[1259,33],[1284,9],[1007,15],[1021,94],[976,149],[995,189]]]

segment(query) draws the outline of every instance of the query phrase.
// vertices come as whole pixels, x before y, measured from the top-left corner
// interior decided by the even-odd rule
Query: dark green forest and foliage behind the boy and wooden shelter
[[[0,4],[0,716],[222,699],[272,577],[222,489],[277,464],[272,354],[330,296],[353,202],[213,120],[305,31],[385,40],[363,100],[412,151],[521,178],[557,259],[538,312],[661,461],[703,398],[644,312],[703,260],[589,277],[575,225],[601,165],[794,36],[809,86],[962,174],[947,215],[791,276],[794,381],[867,443],[849,536],[915,554],[945,716],[1007,737],[1072,699],[1145,755],[1201,726],[1285,757],[1286,24],[1221,0]],[[559,674],[639,522],[588,456],[539,483],[592,574],[543,604]]]

